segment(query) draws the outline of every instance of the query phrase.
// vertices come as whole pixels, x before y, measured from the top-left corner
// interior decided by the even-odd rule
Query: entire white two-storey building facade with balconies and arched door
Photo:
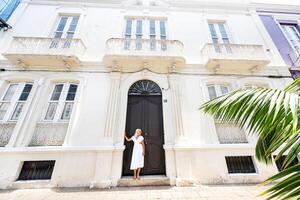
[[[254,158],[255,136],[199,111],[238,88],[291,82],[256,12],[267,7],[21,1],[13,29],[0,32],[0,187],[117,186],[130,174],[124,131],[136,128],[146,142],[142,173],[170,185],[278,172],[280,163]]]

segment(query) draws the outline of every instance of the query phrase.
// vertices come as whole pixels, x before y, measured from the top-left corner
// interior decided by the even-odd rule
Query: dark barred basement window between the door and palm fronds
[[[251,156],[226,156],[229,174],[234,173],[256,173]]]

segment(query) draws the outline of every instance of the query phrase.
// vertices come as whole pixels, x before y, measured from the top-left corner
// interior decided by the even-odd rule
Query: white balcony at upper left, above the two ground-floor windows
[[[22,67],[71,68],[80,65],[85,45],[80,39],[14,37],[3,54]]]

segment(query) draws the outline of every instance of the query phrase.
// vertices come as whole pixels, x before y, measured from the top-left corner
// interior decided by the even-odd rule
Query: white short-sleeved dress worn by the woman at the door
[[[143,136],[139,136],[137,139],[132,136],[131,137],[134,145],[132,150],[132,157],[131,157],[131,165],[130,169],[134,170],[137,168],[144,167],[144,156],[143,156],[143,145],[141,142],[144,140]]]

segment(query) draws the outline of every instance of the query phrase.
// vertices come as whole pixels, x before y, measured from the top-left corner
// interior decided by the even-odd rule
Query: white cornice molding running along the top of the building
[[[102,7],[102,8],[119,8],[132,10],[175,10],[175,11],[219,11],[223,12],[248,12],[251,10],[300,13],[299,5],[289,5],[284,2],[275,3],[257,3],[250,0],[161,0],[157,1],[156,6],[137,5],[135,0],[24,0],[23,3],[40,4],[40,5],[66,5],[74,7]]]

